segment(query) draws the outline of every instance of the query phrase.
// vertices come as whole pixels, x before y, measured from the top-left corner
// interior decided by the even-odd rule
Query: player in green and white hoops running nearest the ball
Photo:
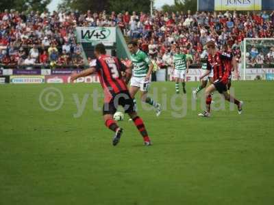
[[[136,41],[129,42],[128,48],[131,53],[130,60],[132,61],[133,66],[133,76],[129,87],[129,94],[134,99],[134,105],[136,107],[136,100],[134,96],[140,90],[142,102],[146,102],[147,104],[153,106],[156,111],[156,116],[159,116],[161,114],[160,103],[155,102],[153,98],[147,97],[153,64],[147,54],[140,51]]]

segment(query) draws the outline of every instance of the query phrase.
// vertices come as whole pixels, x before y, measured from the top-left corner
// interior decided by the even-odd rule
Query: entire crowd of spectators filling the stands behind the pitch
[[[180,46],[192,64],[200,63],[206,42],[227,44],[240,59],[244,38],[273,38],[273,12],[192,12],[153,16],[140,12],[107,15],[105,12],[16,12],[0,13],[0,65],[10,68],[83,67],[82,48],[75,27],[118,26],[128,38],[136,38],[140,49],[149,53],[160,68],[171,64],[175,46]],[[253,46],[248,64],[274,64],[274,47]]]

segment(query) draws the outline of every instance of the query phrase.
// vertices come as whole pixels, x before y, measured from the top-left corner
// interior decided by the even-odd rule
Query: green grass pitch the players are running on
[[[226,103],[204,119],[197,116],[200,101],[191,106],[197,83],[187,83],[184,118],[171,114],[175,84],[153,83],[151,91],[158,88],[168,102],[160,118],[138,105],[151,147],[127,118],[112,147],[113,133],[90,96],[83,114],[73,116],[73,94],[82,102],[101,92],[99,84],[1,85],[0,204],[273,204],[274,82],[232,85],[245,101],[242,115]],[[59,110],[40,106],[46,87],[62,92]],[[52,105],[58,100],[48,97]]]

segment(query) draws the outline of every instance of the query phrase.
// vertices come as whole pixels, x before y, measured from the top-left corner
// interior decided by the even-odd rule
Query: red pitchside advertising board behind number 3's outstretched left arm
[[[71,83],[71,76],[69,75],[48,75],[45,76],[46,83]],[[97,74],[92,74],[87,77],[77,79],[75,83],[99,83]]]

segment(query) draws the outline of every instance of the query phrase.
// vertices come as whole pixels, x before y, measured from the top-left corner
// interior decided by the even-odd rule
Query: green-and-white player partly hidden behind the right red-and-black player
[[[203,53],[201,53],[201,59],[202,61],[206,61],[206,58],[208,57],[208,51],[204,50]],[[205,74],[207,72],[207,63],[204,62],[201,66],[201,70],[202,70],[202,75]],[[203,77],[203,79],[201,79],[201,85],[199,85],[197,87],[196,90],[193,90],[192,95],[194,99],[197,99],[197,94],[203,90],[203,88],[206,87],[206,85],[208,84],[208,81],[210,81],[210,84],[213,83],[213,72],[211,71],[207,76]]]

